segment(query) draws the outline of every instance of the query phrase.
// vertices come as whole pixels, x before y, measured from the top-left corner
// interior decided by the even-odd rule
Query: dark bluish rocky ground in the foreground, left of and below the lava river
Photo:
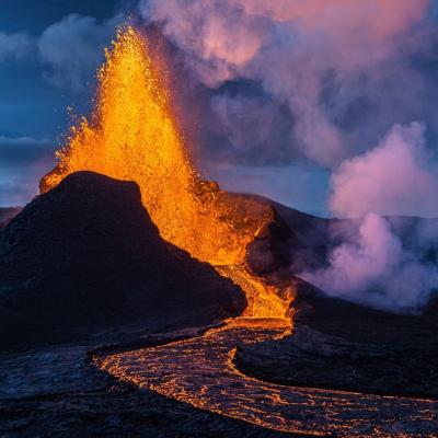
[[[91,365],[94,354],[198,334],[177,328],[185,323],[151,320],[148,325],[101,333],[88,343],[0,354],[0,437],[284,436],[120,383]],[[157,331],[160,334],[153,335]],[[116,339],[124,343],[115,346]],[[105,344],[113,347],[99,348]]]

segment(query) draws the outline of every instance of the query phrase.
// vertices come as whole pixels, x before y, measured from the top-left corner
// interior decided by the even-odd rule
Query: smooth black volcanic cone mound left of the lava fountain
[[[244,306],[231,281],[160,238],[132,182],[72,174],[0,237],[3,345],[152,314],[206,323]]]

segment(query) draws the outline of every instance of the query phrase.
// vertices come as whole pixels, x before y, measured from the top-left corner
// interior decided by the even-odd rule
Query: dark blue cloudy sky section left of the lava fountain
[[[22,205],[36,194],[38,176],[53,165],[68,129],[67,107],[89,110],[95,67],[114,31],[108,20],[119,11],[117,0],[1,1],[0,206]],[[70,25],[68,16],[76,16]],[[78,37],[97,44],[69,64]]]

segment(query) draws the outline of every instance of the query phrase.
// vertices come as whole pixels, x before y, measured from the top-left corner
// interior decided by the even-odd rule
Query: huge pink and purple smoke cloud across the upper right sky
[[[214,106],[226,99],[244,108],[247,117],[231,122],[233,132],[250,118],[263,124],[261,100],[281,113],[263,138],[247,132],[228,145],[230,120],[220,111],[206,114],[200,124],[215,126],[221,148],[230,148],[231,157],[222,155],[251,162],[258,142],[257,161],[275,162],[279,148],[289,161],[301,157],[332,168],[376,145],[396,123],[425,120],[435,132],[423,99],[435,94],[423,71],[437,41],[428,7],[428,0],[142,0],[139,10],[178,48]],[[235,82],[256,84],[250,97],[257,99],[243,85],[229,93]],[[288,126],[280,140],[277,124]]]

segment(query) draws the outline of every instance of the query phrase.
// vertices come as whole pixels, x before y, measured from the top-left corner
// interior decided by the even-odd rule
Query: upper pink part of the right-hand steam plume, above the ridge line
[[[377,148],[344,161],[332,176],[334,214],[438,217],[438,169],[424,136],[420,123],[396,125]]]

